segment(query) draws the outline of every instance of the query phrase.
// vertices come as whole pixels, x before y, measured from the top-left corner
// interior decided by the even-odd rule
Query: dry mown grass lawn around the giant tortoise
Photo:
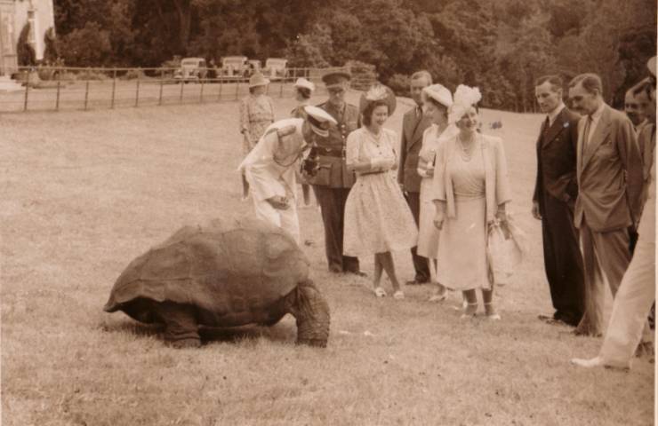
[[[277,118],[293,108],[275,103]],[[409,106],[387,127],[399,132]],[[253,215],[239,200],[237,104],[0,116],[2,424],[653,424],[653,364],[577,369],[568,359],[596,355],[601,339],[537,319],[552,312],[529,213],[541,117],[482,114],[485,128],[502,121],[529,241],[496,290],[501,321],[460,320],[461,297],[430,304],[429,286],[376,299],[368,279],[330,275],[310,208],[302,249],[332,308],[327,348],[295,346],[288,316],[198,350],[168,348],[160,328],[102,306],[124,267],[181,225]],[[412,279],[409,253],[395,260]],[[373,259],[362,269],[372,277]]]

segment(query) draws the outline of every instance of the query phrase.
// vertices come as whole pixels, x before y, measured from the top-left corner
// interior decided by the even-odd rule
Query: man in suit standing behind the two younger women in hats
[[[402,121],[402,144],[400,146],[400,166],[397,168],[397,182],[405,193],[406,202],[412,210],[413,219],[418,225],[421,212],[420,193],[421,177],[418,174],[418,153],[422,146],[422,133],[432,121],[429,114],[422,109],[422,90],[432,83],[432,76],[427,71],[418,71],[411,77],[411,94],[416,106],[407,111]],[[421,284],[429,281],[429,266],[425,257],[412,250],[413,269],[416,275],[407,285]]]

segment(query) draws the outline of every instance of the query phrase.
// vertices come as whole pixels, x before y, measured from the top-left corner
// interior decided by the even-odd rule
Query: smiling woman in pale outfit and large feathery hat
[[[477,132],[480,99],[477,88],[457,88],[448,121],[456,123],[459,133],[437,147],[433,182],[434,224],[441,230],[437,279],[446,288],[463,292],[467,304],[462,318],[475,316],[479,288],[486,317],[501,319],[488,273],[486,231],[495,220],[507,220],[510,184],[502,140]]]

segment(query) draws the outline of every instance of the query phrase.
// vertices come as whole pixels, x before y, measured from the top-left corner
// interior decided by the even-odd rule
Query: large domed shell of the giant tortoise
[[[191,304],[199,324],[229,327],[267,318],[269,308],[309,276],[309,260],[281,228],[252,219],[184,226],[134,259],[103,308],[153,322],[155,302]]]

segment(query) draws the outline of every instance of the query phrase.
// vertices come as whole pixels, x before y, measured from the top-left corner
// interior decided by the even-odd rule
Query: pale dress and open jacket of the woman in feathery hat
[[[437,147],[434,199],[446,201],[438,239],[437,280],[447,288],[491,289],[486,262],[486,224],[498,204],[510,201],[507,162],[500,138],[477,135],[470,156],[458,137]]]

